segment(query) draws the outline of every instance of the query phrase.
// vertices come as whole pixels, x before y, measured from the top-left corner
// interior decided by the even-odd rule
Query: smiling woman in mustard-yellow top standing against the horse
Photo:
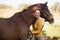
[[[32,34],[34,35],[35,37],[35,40],[44,40],[44,36],[42,34],[42,26],[43,26],[43,21],[42,19],[40,18],[40,12],[37,10],[36,13],[36,22],[34,23],[33,25],[33,30],[31,31]]]

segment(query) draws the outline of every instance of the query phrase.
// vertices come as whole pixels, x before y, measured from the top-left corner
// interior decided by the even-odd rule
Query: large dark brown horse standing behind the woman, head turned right
[[[52,17],[52,14],[48,8],[45,8],[45,6],[47,6],[47,3],[34,4],[21,12],[15,13],[10,18],[0,18],[0,40],[27,40],[29,27],[34,20],[35,12],[37,10],[39,10],[41,14],[45,16],[41,17],[49,20],[49,22],[50,20],[53,22],[54,18]]]

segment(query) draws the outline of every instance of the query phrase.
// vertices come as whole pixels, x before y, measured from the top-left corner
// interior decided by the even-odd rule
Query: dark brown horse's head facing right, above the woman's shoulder
[[[47,2],[45,4],[40,4],[41,5],[41,17],[45,19],[45,21],[48,21],[50,24],[54,22],[53,15],[50,13]]]

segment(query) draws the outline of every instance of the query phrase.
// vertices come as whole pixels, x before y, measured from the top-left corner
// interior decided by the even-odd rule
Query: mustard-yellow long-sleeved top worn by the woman
[[[40,37],[42,36],[42,25],[43,22],[41,18],[38,18],[36,23],[34,24],[34,29],[32,30],[32,34],[34,34],[35,37]]]

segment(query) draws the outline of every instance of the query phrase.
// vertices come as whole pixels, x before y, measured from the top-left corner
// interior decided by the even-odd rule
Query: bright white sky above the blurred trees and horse
[[[19,4],[36,4],[45,3],[48,1],[48,6],[51,7],[55,2],[60,2],[60,0],[0,0],[0,4],[10,5],[13,8],[17,8]]]

